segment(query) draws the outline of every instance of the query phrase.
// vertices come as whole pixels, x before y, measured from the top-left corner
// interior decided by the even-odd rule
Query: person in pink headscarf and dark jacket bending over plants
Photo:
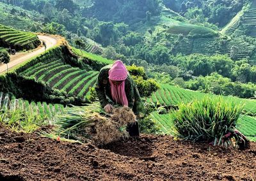
[[[100,69],[95,90],[106,112],[111,112],[114,105],[120,105],[132,108],[138,118],[144,116],[139,91],[122,61]],[[127,131],[130,136],[140,136],[138,122],[128,125]]]

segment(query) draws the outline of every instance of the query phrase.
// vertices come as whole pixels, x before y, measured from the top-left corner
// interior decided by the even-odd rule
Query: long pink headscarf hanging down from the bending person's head
[[[125,79],[128,71],[122,61],[115,61],[112,68],[109,69],[109,83],[111,87],[111,96],[114,101],[122,106],[128,106],[128,100],[125,94]],[[112,81],[122,81],[120,85],[115,85]]]

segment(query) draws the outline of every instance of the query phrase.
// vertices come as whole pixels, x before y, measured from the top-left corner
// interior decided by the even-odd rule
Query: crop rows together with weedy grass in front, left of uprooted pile
[[[31,133],[38,126],[49,125],[55,122],[56,116],[63,114],[63,105],[52,105],[47,103],[35,103],[25,101],[22,98],[15,98],[12,94],[0,92],[0,110],[3,112],[1,122],[6,122],[13,129]],[[20,115],[20,117],[19,117]],[[18,118],[17,118],[18,117]],[[25,119],[22,117],[26,117]],[[17,124],[19,120],[24,120],[22,124]],[[32,127],[30,127],[32,125]]]

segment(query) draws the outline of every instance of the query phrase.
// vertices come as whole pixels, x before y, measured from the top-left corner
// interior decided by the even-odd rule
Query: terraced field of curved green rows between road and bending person
[[[72,96],[85,98],[90,87],[95,85],[97,71],[86,71],[74,68],[63,61],[38,62],[20,75],[36,78],[50,87],[67,92]]]

